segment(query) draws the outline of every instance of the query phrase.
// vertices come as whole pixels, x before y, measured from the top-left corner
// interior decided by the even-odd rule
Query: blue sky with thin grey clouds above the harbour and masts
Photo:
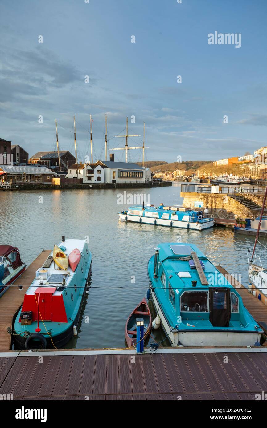
[[[146,160],[267,145],[266,0],[1,0],[0,16],[0,137],[30,156],[56,148],[55,118],[60,149],[74,153],[75,114],[84,160],[90,113],[94,161],[105,156],[105,114],[109,149],[124,145],[115,136],[126,116],[140,135],[129,146],[141,146],[145,122]],[[241,46],[209,44],[216,31],[241,34]]]

